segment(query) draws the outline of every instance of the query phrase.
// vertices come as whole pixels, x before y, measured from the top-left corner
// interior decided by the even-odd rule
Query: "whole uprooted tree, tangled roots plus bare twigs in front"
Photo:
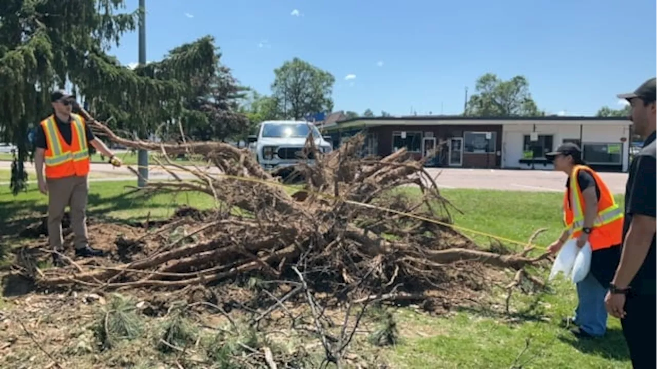
[[[382,159],[362,158],[364,137],[357,135],[322,154],[309,139],[302,156],[314,157],[315,163],[296,166],[304,185],[288,191],[248,150],[223,142],[132,141],[101,123],[94,125],[118,144],[166,154],[161,156],[162,167],[175,180],[152,182],[148,188],[202,192],[215,206],[181,212],[173,223],[151,226],[137,238],[117,239],[118,250],[95,245],[111,250],[101,263],[76,263],[64,255],[69,265],[41,270],[39,258],[48,253],[18,251],[16,269],[43,290],[185,291],[250,276],[269,278],[287,284],[288,290],[283,297],[273,297],[269,308],[256,305],[259,316],[252,322],[257,324],[283,301],[307,303],[326,361],[338,364],[355,328],[347,330],[345,322],[340,338],[331,338],[317,293],[324,296],[325,307],[348,306],[349,316],[353,305],[373,301],[421,301],[427,309],[458,303],[454,291],[486,289],[487,269],[515,271],[509,293],[523,281],[542,284],[525,267],[541,263],[547,254],[532,257],[531,246],[520,253],[477,248],[450,227],[451,213],[458,210],[441,196],[423,163],[411,160],[405,150]],[[168,160],[181,153],[203,156],[220,174]],[[405,186],[415,186],[421,195],[407,196]],[[162,242],[164,232],[183,226],[183,236]],[[351,326],[358,325],[363,311]],[[286,362],[283,357],[263,357]]]

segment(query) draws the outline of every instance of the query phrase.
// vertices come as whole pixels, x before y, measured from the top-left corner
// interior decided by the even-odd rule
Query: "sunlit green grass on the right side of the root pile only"
[[[455,223],[474,230],[526,242],[537,228],[549,228],[536,240],[547,246],[561,231],[561,194],[493,190],[443,190],[443,195],[465,212]],[[616,200],[623,206],[623,196]],[[472,235],[484,244],[482,236]],[[541,276],[547,277],[549,271]],[[497,298],[504,303],[503,292]],[[631,368],[620,323],[609,319],[608,334],[600,341],[578,342],[559,327],[562,317],[576,307],[574,285],[557,278],[551,292],[540,296],[514,293],[520,322],[482,309],[459,311],[449,318],[427,318],[408,311],[397,314],[400,326],[417,326],[431,337],[407,339],[390,357],[398,368],[509,368],[530,340],[520,359],[532,358],[522,368]],[[540,297],[540,299],[537,299]]]

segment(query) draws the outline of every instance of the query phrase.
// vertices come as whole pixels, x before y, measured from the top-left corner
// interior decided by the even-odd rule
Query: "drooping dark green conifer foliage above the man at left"
[[[107,53],[137,26],[139,11],[122,12],[124,8],[124,0],[3,0],[0,132],[5,141],[18,146],[14,193],[25,188],[22,163],[28,129],[51,111],[53,87],[71,83],[72,93],[89,102],[99,118],[112,116],[122,128],[141,134],[151,133],[172,117],[207,121],[212,116],[192,109],[195,92],[202,90],[207,101],[217,102],[217,91],[223,88],[218,79],[214,87],[212,83],[201,87],[200,82],[226,72],[219,69],[214,39],[202,37],[173,49],[160,62],[131,70]],[[232,87],[222,91],[231,95]]]

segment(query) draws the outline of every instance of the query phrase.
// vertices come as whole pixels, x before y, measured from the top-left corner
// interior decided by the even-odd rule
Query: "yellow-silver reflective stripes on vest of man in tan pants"
[[[51,156],[45,156],[45,164],[49,166],[60,165],[70,160],[79,162],[80,160],[87,160],[89,158],[89,149],[87,148],[87,135],[85,134],[84,125],[78,116],[71,114],[71,144],[74,146],[74,139],[78,142],[79,150],[72,152],[70,150],[62,149],[62,142],[59,140],[57,125],[55,123],[55,116],[50,116],[46,120],[44,130],[48,147],[51,148]],[[63,137],[62,137],[63,139]]]

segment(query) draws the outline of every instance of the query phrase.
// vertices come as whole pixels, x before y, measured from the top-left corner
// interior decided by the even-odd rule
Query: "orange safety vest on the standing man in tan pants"
[[[90,160],[84,118],[71,114],[71,144],[57,128],[55,116],[41,121],[48,148],[45,150],[45,177],[83,177],[89,173]]]

